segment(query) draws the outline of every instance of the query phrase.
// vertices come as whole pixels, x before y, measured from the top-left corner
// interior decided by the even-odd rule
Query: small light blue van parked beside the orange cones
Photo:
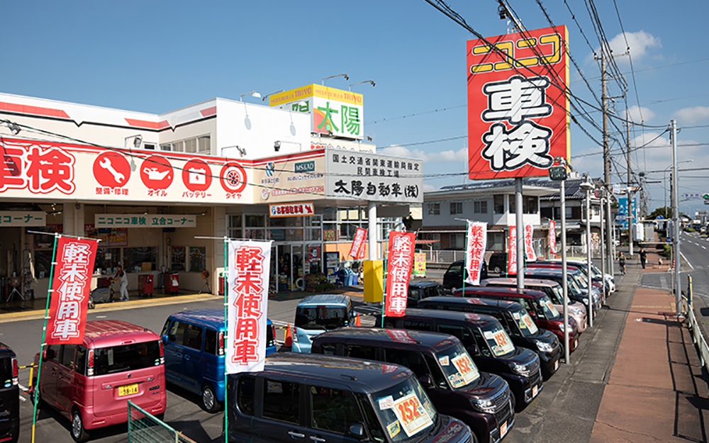
[[[310,352],[311,340],[321,332],[354,325],[357,313],[349,296],[320,294],[308,296],[296,306],[293,352]]]

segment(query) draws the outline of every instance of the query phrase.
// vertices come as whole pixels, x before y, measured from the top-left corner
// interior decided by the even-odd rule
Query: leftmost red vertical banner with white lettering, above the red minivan
[[[59,237],[46,344],[84,342],[97,240]]]

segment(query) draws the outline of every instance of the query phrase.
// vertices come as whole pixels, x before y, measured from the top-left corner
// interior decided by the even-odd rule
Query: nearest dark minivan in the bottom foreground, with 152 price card
[[[279,352],[261,372],[228,376],[228,442],[469,443],[395,364]]]

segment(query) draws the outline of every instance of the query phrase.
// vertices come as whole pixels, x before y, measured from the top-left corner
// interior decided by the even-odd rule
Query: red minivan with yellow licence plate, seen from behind
[[[35,356],[35,365],[39,363]],[[85,442],[89,430],[128,421],[128,400],[161,417],[165,412],[165,366],[160,337],[118,320],[86,322],[83,344],[45,349],[39,405],[72,420],[71,434]]]

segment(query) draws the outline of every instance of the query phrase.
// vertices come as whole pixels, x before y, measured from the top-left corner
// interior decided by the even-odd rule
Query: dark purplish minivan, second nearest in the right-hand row
[[[406,366],[418,376],[436,409],[469,425],[479,442],[497,442],[514,423],[507,382],[478,371],[460,341],[452,335],[343,327],[313,338],[313,354]]]

